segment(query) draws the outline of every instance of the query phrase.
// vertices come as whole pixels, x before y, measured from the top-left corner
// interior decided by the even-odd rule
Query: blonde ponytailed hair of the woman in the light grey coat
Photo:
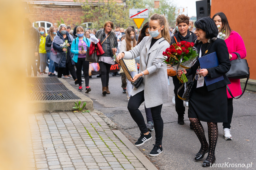
[[[162,37],[168,42],[171,42],[171,38],[170,38],[170,33],[169,33],[169,26],[168,26],[168,21],[166,20],[166,18],[163,15],[159,15],[159,14],[153,14],[150,17],[150,20],[158,20],[159,24],[163,27],[163,30],[161,31],[161,35]]]

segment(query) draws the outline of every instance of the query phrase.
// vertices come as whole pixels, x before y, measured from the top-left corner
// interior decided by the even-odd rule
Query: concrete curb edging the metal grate
[[[74,102],[81,101],[81,103],[86,102],[85,110],[93,111],[93,101],[87,96],[79,93],[74,89],[66,80],[58,78],[63,85],[65,85],[69,90],[71,90],[75,95],[81,99],[77,100],[48,100],[48,101],[29,101],[30,110],[34,113],[49,113],[49,112],[63,112],[63,111],[73,111]],[[82,105],[82,104],[81,104]]]

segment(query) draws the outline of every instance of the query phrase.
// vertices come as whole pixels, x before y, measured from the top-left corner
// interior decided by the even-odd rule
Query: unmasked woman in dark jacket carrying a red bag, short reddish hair
[[[112,64],[115,64],[112,57],[117,51],[117,37],[112,32],[113,22],[107,21],[104,24],[104,29],[98,30],[96,38],[100,40],[98,43],[102,43],[102,49],[104,54],[99,56],[99,66],[101,69],[101,84],[102,84],[102,95],[110,94],[109,91],[109,71]]]

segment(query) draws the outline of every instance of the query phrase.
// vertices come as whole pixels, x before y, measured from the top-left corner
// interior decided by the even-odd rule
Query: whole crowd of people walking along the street
[[[71,30],[70,26],[61,24],[58,28],[50,27],[49,32],[46,33],[44,27],[36,29],[28,20],[25,20],[24,27],[25,35],[31,37],[28,40],[30,50],[28,51],[27,69],[29,76],[31,76],[31,67],[33,67],[34,76],[37,76],[37,72],[39,72],[38,75],[48,74],[51,77],[56,76],[54,73],[57,72],[58,77],[72,77],[74,83],[79,85],[79,91],[83,90],[84,80],[85,93],[90,92],[90,62],[86,61],[86,51],[92,44],[91,38],[95,36],[104,51],[98,61],[102,95],[104,96],[110,94],[109,72],[111,65],[115,64],[115,59],[117,63],[120,63],[120,59],[124,59],[132,78],[126,78],[122,69],[119,73],[114,73],[113,76],[121,75],[120,82],[122,82],[122,92],[127,93],[128,110],[140,130],[140,137],[134,145],[140,146],[150,140],[152,138],[150,132],[155,129],[155,144],[149,153],[150,156],[157,156],[163,152],[161,109],[163,103],[169,102],[167,72],[166,69],[157,66],[159,60],[164,59],[163,51],[170,44],[187,41],[195,43],[195,48],[199,53],[198,58],[216,52],[218,66],[203,69],[197,60],[191,68],[179,70],[177,75],[172,77],[173,102],[178,114],[177,123],[184,124],[185,106],[183,100],[178,98],[178,95],[182,96],[184,93],[184,87],[179,89],[180,82],[177,76],[180,77],[185,73],[190,81],[196,75],[202,78],[223,76],[223,80],[211,85],[203,83],[203,85],[194,86],[193,95],[186,103],[189,108],[190,128],[194,130],[201,143],[201,148],[195,155],[195,161],[202,160],[208,153],[202,166],[209,167],[211,163],[215,162],[218,122],[223,122],[224,139],[232,140],[230,124],[233,115],[233,98],[226,90],[226,85],[229,86],[234,96],[240,95],[242,91],[240,81],[228,79],[225,73],[230,69],[230,60],[238,58],[235,53],[240,54],[241,58],[246,57],[246,48],[241,36],[230,28],[224,13],[216,13],[212,18],[199,18],[195,23],[189,17],[181,14],[176,19],[175,27],[169,27],[163,15],[153,14],[141,30],[134,29],[133,26],[126,29],[116,26],[114,29],[114,24],[111,21],[107,21],[104,28],[100,30],[90,30],[90,28],[85,30],[81,26]],[[220,33],[224,32],[225,36],[220,37]],[[37,65],[34,56],[39,60]],[[50,63],[48,63],[48,59]],[[45,71],[46,67],[49,67],[48,73]],[[82,79],[82,70],[84,79]],[[143,81],[138,88],[135,88],[131,82],[136,81],[139,77],[143,77]],[[197,80],[194,82],[197,84]],[[139,106],[143,102],[145,102],[146,123],[139,110]],[[209,144],[200,121],[207,122]]]

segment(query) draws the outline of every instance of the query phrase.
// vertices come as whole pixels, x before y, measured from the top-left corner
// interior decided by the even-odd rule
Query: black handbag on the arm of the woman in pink
[[[235,53],[235,54],[237,55],[238,59],[230,61],[231,67],[230,67],[230,70],[226,73],[226,76],[229,79],[244,79],[244,78],[247,78],[247,80],[245,82],[243,93],[237,98],[235,98],[232,95],[228,85],[226,87],[227,87],[228,93],[231,95],[231,97],[235,98],[235,99],[238,99],[238,98],[242,97],[242,95],[245,92],[247,82],[248,82],[249,77],[250,77],[250,71],[249,71],[249,66],[248,66],[247,60],[246,59],[241,59],[241,56],[240,56],[239,53]]]

